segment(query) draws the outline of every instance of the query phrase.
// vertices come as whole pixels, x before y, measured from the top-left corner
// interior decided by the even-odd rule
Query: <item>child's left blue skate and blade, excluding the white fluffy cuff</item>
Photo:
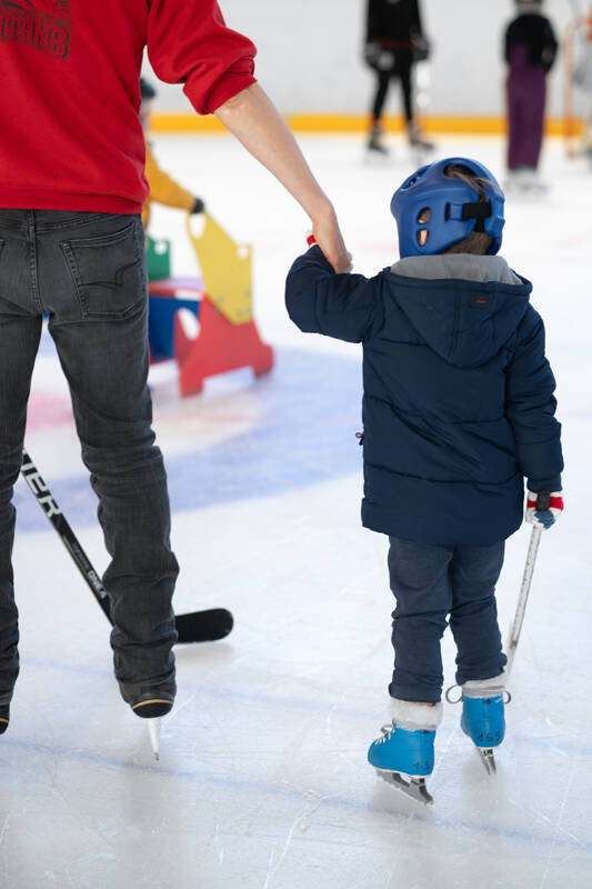
[[[394,720],[381,730],[382,737],[371,743],[368,751],[370,765],[408,797],[418,802],[433,802],[425,778],[433,771],[435,730],[404,729]]]

